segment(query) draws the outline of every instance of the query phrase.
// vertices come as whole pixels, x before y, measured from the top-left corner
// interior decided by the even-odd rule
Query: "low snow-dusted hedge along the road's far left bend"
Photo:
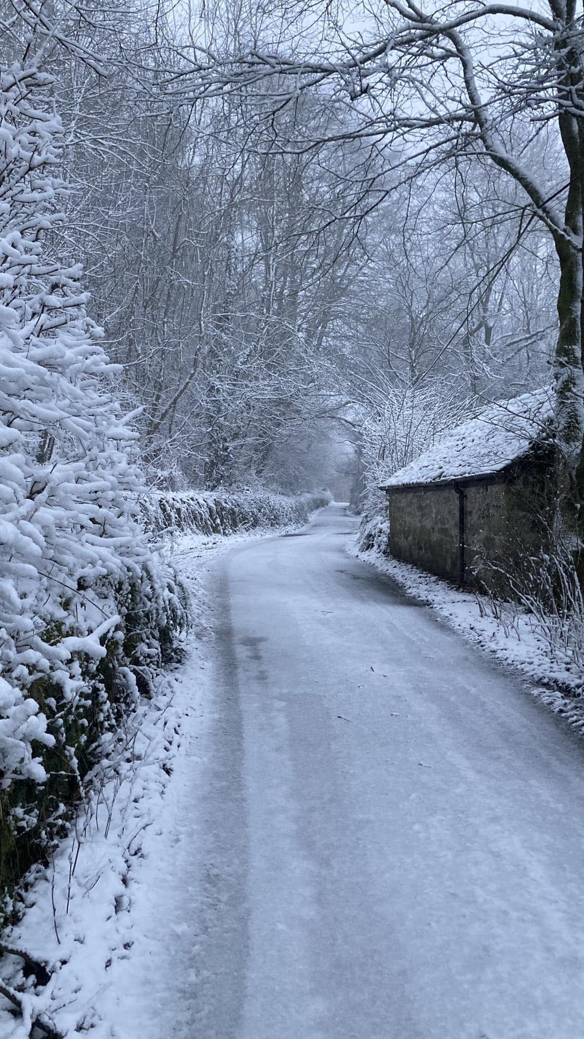
[[[328,491],[287,498],[271,490],[156,492],[140,500],[147,530],[233,534],[262,527],[299,527],[330,502]]]

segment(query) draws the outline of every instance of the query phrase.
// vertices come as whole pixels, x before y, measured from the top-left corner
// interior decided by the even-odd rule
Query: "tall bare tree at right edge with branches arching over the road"
[[[387,0],[364,7],[363,19],[353,9],[346,23],[326,8],[292,45],[286,26],[294,14],[294,5],[272,10],[254,38],[248,33],[241,45],[240,36],[231,48],[201,32],[183,51],[184,96],[233,95],[254,83],[265,119],[269,109],[318,94],[350,111],[347,135],[377,149],[394,183],[478,157],[516,186],[521,235],[534,222],[545,228],[559,267],[557,443],[576,523],[584,501],[584,78],[575,4],[551,0],[547,14]]]

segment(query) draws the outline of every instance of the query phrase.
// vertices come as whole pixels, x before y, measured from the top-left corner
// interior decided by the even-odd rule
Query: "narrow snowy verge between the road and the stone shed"
[[[562,648],[533,613],[507,603],[462,591],[441,578],[387,555],[389,522],[375,517],[364,526],[351,551],[408,594],[429,604],[464,638],[529,681],[531,692],[584,731],[584,674],[574,654]]]

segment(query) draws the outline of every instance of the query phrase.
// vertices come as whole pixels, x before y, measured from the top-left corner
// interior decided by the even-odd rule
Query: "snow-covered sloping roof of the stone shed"
[[[549,387],[489,404],[390,476],[381,489],[500,473],[527,453],[552,414]]]

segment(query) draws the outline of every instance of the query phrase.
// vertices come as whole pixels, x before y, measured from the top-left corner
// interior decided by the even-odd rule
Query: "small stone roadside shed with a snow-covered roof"
[[[553,508],[550,390],[492,404],[381,484],[390,552],[462,585],[507,590],[504,574],[545,545]]]

